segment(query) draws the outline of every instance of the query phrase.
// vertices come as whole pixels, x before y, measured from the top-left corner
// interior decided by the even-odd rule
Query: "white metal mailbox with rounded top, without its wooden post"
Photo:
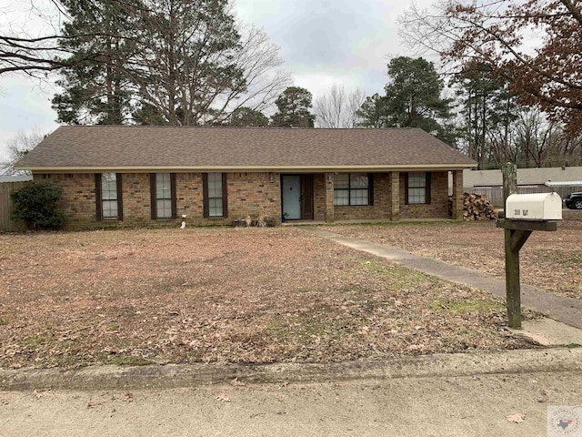
[[[512,194],[505,213],[514,220],[561,220],[562,198],[557,193]]]

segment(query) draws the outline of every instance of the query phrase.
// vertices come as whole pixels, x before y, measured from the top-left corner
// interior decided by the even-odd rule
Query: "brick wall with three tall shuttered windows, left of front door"
[[[95,175],[35,174],[63,188],[59,208],[65,213],[67,229],[100,229],[130,227],[174,227],[184,220],[186,225],[230,225],[234,219],[256,219],[259,214],[280,222],[280,175],[273,173],[229,173],[227,176],[228,217],[204,218],[201,173],[176,173],[177,219],[151,219],[151,193],[148,173],[124,173],[123,220],[95,219]],[[186,219],[182,216],[186,215]]]

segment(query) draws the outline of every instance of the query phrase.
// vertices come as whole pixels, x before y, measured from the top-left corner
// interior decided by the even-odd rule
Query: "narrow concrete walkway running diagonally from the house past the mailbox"
[[[421,257],[405,250],[392,249],[376,243],[370,243],[360,239],[343,237],[334,232],[329,232],[315,227],[301,227],[320,237],[330,239],[348,248],[361,250],[377,257],[389,259],[396,264],[409,269],[416,269],[438,278],[446,279],[458,284],[487,290],[497,296],[506,297],[506,282],[501,279],[487,277],[483,273],[467,269],[465,267],[448,264],[437,259]],[[561,298],[547,290],[521,284],[521,303],[527,307],[546,313],[555,320],[582,329],[582,300]]]

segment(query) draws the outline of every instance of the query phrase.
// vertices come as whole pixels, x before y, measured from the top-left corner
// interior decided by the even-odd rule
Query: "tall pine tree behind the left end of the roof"
[[[63,5],[73,19],[65,24],[60,44],[75,55],[57,81],[65,90],[53,98],[58,121],[123,124],[130,111],[127,66],[134,51],[136,21],[131,17],[137,5],[131,0],[66,0]]]

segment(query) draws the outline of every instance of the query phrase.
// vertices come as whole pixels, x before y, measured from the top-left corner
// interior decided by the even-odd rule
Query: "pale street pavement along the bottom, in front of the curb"
[[[0,436],[542,437],[547,407],[580,405],[581,393],[582,371],[0,391]]]

